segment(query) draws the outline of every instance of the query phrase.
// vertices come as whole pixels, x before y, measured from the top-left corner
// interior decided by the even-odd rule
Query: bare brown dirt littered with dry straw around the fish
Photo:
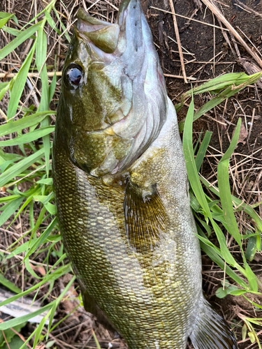
[[[80,6],[89,8],[93,1],[70,1],[64,0],[64,5],[57,1],[56,8],[64,16],[66,25],[74,20],[75,13]],[[110,5],[111,3],[111,5]],[[226,20],[238,31],[242,39],[251,47],[252,52],[256,52],[261,57],[262,52],[262,1],[256,0],[221,0],[215,1],[217,7],[224,15]],[[0,11],[15,12],[19,20],[27,22],[32,16],[32,2],[31,0],[3,0],[0,3]],[[112,6],[113,5],[113,6]],[[35,1],[34,6],[41,8],[45,6],[42,0]],[[110,20],[112,16],[117,14],[114,6],[118,8],[119,0],[107,1],[100,0],[89,11],[90,14],[101,15],[108,17]],[[198,86],[205,80],[210,80],[223,73],[232,72],[246,72],[251,74],[261,70],[261,66],[257,61],[254,61],[250,54],[247,53],[242,45],[235,42],[230,32],[222,31],[219,27],[217,17],[210,11],[200,0],[177,0],[174,1],[175,13],[182,17],[177,17],[177,25],[180,34],[181,47],[184,52],[184,69],[189,83],[185,84],[182,78],[182,65],[178,47],[176,43],[176,36],[174,31],[173,17],[170,13],[170,5],[168,0],[142,0],[143,10],[147,17],[152,30],[154,43],[159,52],[159,58],[163,73],[166,75],[179,75],[180,78],[166,76],[166,85],[168,88],[168,95],[173,103],[180,102],[180,96],[187,91],[191,84],[193,87]],[[166,12],[167,11],[167,12]],[[34,12],[34,9],[33,9]],[[191,20],[188,20],[187,18]],[[105,18],[104,18],[105,19]],[[200,22],[196,22],[200,21]],[[202,22],[202,23],[201,23]],[[210,25],[208,25],[210,24]],[[217,26],[217,27],[214,27]],[[54,37],[50,37],[48,43],[49,47],[55,44]],[[0,38],[0,45],[8,43],[8,36]],[[17,51],[18,52],[18,51]],[[27,46],[20,47],[20,57],[27,54]],[[57,57],[54,56],[57,54]],[[49,58],[50,64],[57,59],[57,70],[61,71],[63,68],[64,58],[66,54],[66,43],[58,41]],[[17,57],[13,57],[14,61]],[[11,65],[8,68],[12,70]],[[0,73],[6,73],[7,66],[0,66]],[[59,85],[57,87],[56,98],[59,96]],[[198,109],[203,103],[208,101],[210,96],[198,96],[195,98],[195,107]],[[8,105],[8,97],[3,100],[2,110],[6,112]],[[231,140],[235,124],[238,117],[242,118],[241,139],[238,142],[237,149],[234,154],[233,165],[231,173],[232,193],[241,200],[246,200],[249,204],[254,205],[261,201],[261,156],[262,156],[262,124],[261,124],[261,85],[257,84],[255,87],[247,87],[238,95],[230,100],[226,100],[222,105],[214,108],[212,112],[208,112],[204,117],[198,119],[194,123],[194,135],[197,139],[201,132],[205,130],[212,131],[212,140],[208,149],[208,155],[205,158],[205,163],[201,172],[210,181],[214,181],[217,172],[217,163],[221,158],[221,154],[226,151]],[[187,113],[187,107],[183,107],[178,118],[181,120]],[[262,214],[261,207],[258,208],[259,214]],[[239,224],[245,226],[243,217],[238,216]],[[21,224],[27,225],[27,217],[24,221],[17,221],[13,225],[13,237],[3,233],[3,242],[1,248],[6,248],[15,239],[15,234],[19,233]],[[229,237],[228,237],[228,240]],[[231,242],[229,241],[229,244]],[[232,248],[234,248],[232,244]],[[38,255],[41,262],[41,256]],[[55,256],[54,256],[55,260]],[[262,275],[261,269],[261,255],[256,255],[252,262],[252,268],[258,275]],[[52,262],[52,260],[50,260]],[[21,287],[21,274],[26,271],[21,269],[20,260],[11,261],[16,263],[15,274],[11,274],[10,280],[15,280],[17,285]],[[6,267],[8,270],[8,267]],[[36,269],[40,273],[41,269]],[[223,272],[210,261],[210,259],[203,255],[203,289],[213,304],[213,306],[224,314],[224,317],[234,325],[234,330],[238,336],[239,348],[258,349],[257,343],[251,343],[247,339],[241,343],[241,327],[238,313],[242,312],[245,315],[254,315],[255,310],[243,297],[226,297],[226,299],[218,299],[214,293],[221,285],[223,280]],[[28,285],[31,283],[29,278]],[[66,278],[61,279],[59,283],[54,286],[52,290],[52,297],[59,295],[60,289],[66,285]],[[75,284],[75,288],[77,285]],[[39,297],[43,297],[48,290],[42,289],[39,292]],[[72,291],[73,292],[73,291]],[[75,292],[75,291],[74,291]],[[255,299],[255,302],[261,304],[261,299]],[[62,318],[66,313],[69,313],[75,306],[74,301],[67,301],[61,304],[59,313],[57,313],[57,320]],[[258,317],[259,313],[256,314]],[[94,339],[92,339],[92,327],[96,329],[96,335],[101,339],[101,348],[108,348],[108,341],[111,341],[112,348],[126,348],[121,339],[112,340],[112,334],[107,332],[101,325],[98,325],[94,318],[89,318],[85,311],[79,310],[73,313],[67,320],[61,323],[57,329],[52,332],[51,340],[57,348],[95,348]],[[31,333],[34,325],[27,325],[22,330],[22,334],[27,337]],[[259,332],[260,331],[260,332]],[[258,329],[261,336],[261,329]]]

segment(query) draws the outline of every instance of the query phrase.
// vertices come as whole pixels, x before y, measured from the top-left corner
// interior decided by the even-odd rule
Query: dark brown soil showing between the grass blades
[[[174,42],[176,38],[172,15],[155,9],[160,8],[165,11],[170,11],[168,0],[142,0],[141,2],[152,30],[154,43],[156,44],[159,53],[163,73],[182,76],[180,56],[177,53],[177,44]],[[57,3],[57,8],[59,8],[59,1],[57,1]],[[72,2],[66,0],[64,3],[70,12]],[[90,3],[92,2],[86,1],[87,7]],[[101,3],[108,6],[107,1],[101,0]],[[111,3],[113,3],[113,1],[111,1]],[[0,11],[6,11],[6,4],[7,0],[0,3]],[[119,0],[115,1],[114,4],[118,7]],[[260,52],[261,54],[262,15],[256,15],[256,13],[262,14],[262,1],[221,0],[216,1],[216,4],[228,22],[238,30],[239,34],[249,47],[252,47],[253,50]],[[39,6],[41,6],[41,2]],[[194,20],[205,22],[212,26],[219,26],[216,17],[212,15],[210,10],[205,8],[205,5],[200,0],[177,0],[174,1],[174,6],[177,14],[185,17],[192,17]],[[73,8],[71,19],[73,19],[78,7],[79,6],[75,6],[75,8]],[[19,17],[20,20],[28,20],[30,8],[31,0],[13,1],[13,10],[15,10],[17,17]],[[60,8],[60,11],[63,13],[63,8]],[[63,14],[68,17],[68,13],[64,12]],[[112,13],[110,15],[112,15]],[[170,96],[174,104],[180,103],[180,96],[185,91],[188,91],[191,86],[199,86],[203,81],[210,80],[213,77],[217,77],[224,73],[245,72],[242,60],[231,50],[231,46],[226,42],[221,29],[214,29],[214,27],[208,26],[207,24],[188,21],[183,17],[177,17],[177,24],[180,32],[181,45],[183,47],[183,52],[185,53],[184,64],[187,77],[196,78],[196,80],[190,80],[188,84],[185,84],[182,79],[166,77],[168,96]],[[228,37],[230,44],[234,49],[235,46],[229,34]],[[0,45],[2,45],[1,40]],[[50,43],[50,45],[52,46],[52,43]],[[249,63],[253,66],[257,66],[244,48],[240,45],[238,45],[238,48],[242,59],[248,59]],[[21,45],[20,52],[24,52],[24,50],[25,47]],[[57,64],[58,69],[61,70],[64,55],[66,53],[66,45],[61,45],[59,51],[58,49],[54,51],[59,53]],[[52,59],[54,59],[54,54],[50,60]],[[7,71],[6,67],[2,66],[1,68],[3,71]],[[196,96],[196,109],[201,107],[201,105],[210,98],[211,96],[209,94]],[[3,105],[3,111],[5,111],[6,107],[7,105]],[[217,154],[226,151],[232,138],[238,117],[242,118],[242,124],[244,125],[241,133],[242,139],[241,142],[238,142],[237,149],[235,150],[234,161],[235,163],[238,163],[239,161],[243,161],[244,158],[252,158],[252,160],[246,164],[245,161],[243,161],[239,171],[234,172],[235,181],[232,183],[232,193],[241,200],[246,200],[250,204],[255,204],[256,202],[261,201],[259,194],[250,193],[251,189],[253,191],[260,191],[261,188],[261,111],[261,88],[259,86],[252,86],[240,91],[238,95],[225,101],[218,107],[214,108],[211,112],[205,114],[201,119],[194,122],[194,135],[196,140],[199,135],[206,130],[212,131],[213,133],[210,143],[211,147],[208,150],[209,157],[205,158],[205,164],[201,169],[204,177],[210,178],[210,181],[212,181],[214,179],[212,174],[216,172],[217,162],[219,161],[219,156],[217,156]],[[184,119],[186,113],[187,105],[180,110],[178,119]],[[262,212],[259,211],[259,214],[262,214]],[[245,225],[243,230],[245,231]],[[259,273],[259,270],[261,270],[261,255],[256,256],[255,260],[252,262],[252,266],[254,267],[254,270]],[[255,315],[254,309],[242,296],[228,296],[225,299],[218,299],[215,297],[215,292],[217,288],[221,286],[222,279],[223,273],[221,273],[221,269],[216,267],[206,255],[203,255],[203,289],[213,306],[223,313],[228,322],[234,326],[234,330],[238,335],[238,341],[240,342],[242,336],[239,324],[241,321],[238,314],[242,311],[248,315]],[[61,284],[65,282],[66,281],[62,280]],[[59,289],[59,285],[57,285],[56,288]],[[45,290],[43,290],[43,293],[44,292]],[[57,293],[59,294],[59,290],[57,290]],[[254,299],[254,302],[261,304],[261,299]],[[67,305],[67,307],[70,308],[69,305]],[[69,308],[66,310],[61,309],[61,314],[58,314],[57,317],[59,318],[59,315],[64,315],[64,313],[68,312]],[[259,316],[259,313],[256,315],[257,317],[261,317],[261,315]],[[110,334],[103,330],[102,327],[97,327],[94,319],[90,320],[90,318],[86,318],[85,311],[80,311],[78,314],[74,314],[71,321],[73,321],[74,326],[80,326],[81,323],[84,322],[87,322],[87,325],[81,325],[82,334],[79,332],[77,336],[73,330],[68,332],[64,337],[62,337],[64,342],[71,343],[73,348],[81,348],[81,346],[82,348],[94,347],[94,342],[90,341],[88,342],[88,346],[85,346],[87,339],[90,337],[90,327],[93,326],[96,327],[96,334],[98,334],[99,338],[105,340],[102,348],[108,348],[107,343],[110,340]],[[73,327],[71,325],[69,326],[69,322],[66,322],[66,325],[64,326]],[[29,334],[30,326],[31,325],[24,329],[25,335]],[[63,326],[61,326],[61,328],[62,327]],[[260,336],[260,338],[262,337]],[[116,339],[113,342],[115,342],[113,348],[124,348],[124,344],[120,339]],[[78,346],[78,344],[81,344],[81,346]],[[57,348],[64,348],[61,343],[59,344],[59,342],[57,342],[56,345]],[[239,343],[239,348],[257,349],[259,346],[256,343],[250,343],[248,340],[244,343]]]

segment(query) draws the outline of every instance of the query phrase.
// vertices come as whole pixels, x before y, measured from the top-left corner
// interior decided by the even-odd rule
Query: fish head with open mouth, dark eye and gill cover
[[[139,0],[124,0],[114,24],[78,11],[57,111],[71,161],[94,177],[115,174],[157,138],[167,96]]]

